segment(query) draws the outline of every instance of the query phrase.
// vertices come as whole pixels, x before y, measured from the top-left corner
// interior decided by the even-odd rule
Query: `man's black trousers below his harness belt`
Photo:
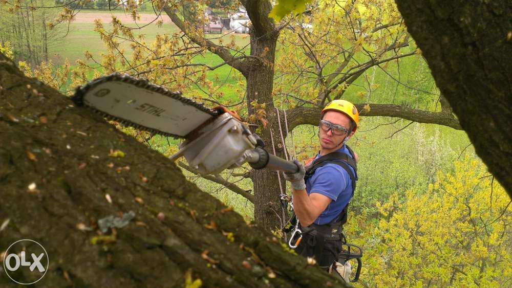
[[[301,243],[295,249],[298,255],[304,257],[315,256],[315,247],[318,243],[318,237],[311,234],[304,234]],[[320,259],[316,259],[318,266],[329,269],[332,263],[338,259],[338,254],[342,252],[342,240],[324,240],[324,248],[322,249]]]

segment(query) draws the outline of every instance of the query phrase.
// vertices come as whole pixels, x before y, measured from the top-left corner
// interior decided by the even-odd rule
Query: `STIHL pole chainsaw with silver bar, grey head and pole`
[[[109,120],[185,141],[170,160],[184,156],[200,174],[217,174],[244,163],[254,169],[296,172],[298,167],[268,153],[236,112],[207,108],[163,86],[114,73],[76,88],[71,98]]]

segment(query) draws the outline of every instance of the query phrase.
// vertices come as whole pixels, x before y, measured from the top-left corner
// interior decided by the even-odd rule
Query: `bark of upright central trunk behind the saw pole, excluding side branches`
[[[263,121],[266,121],[266,124],[264,124],[260,136],[271,153],[273,136],[276,154],[283,157],[283,147],[280,144],[281,141],[278,140],[279,126],[272,98],[275,47],[279,31],[275,29],[274,21],[267,16],[272,9],[269,1],[246,1],[243,4],[252,23],[249,32],[250,55],[261,59],[258,63],[247,63],[248,69],[245,77],[247,79],[249,116],[262,116],[258,109],[265,111],[265,120]],[[259,108],[255,108],[252,103],[257,103]],[[283,214],[281,208],[280,184],[276,172],[266,169],[253,170],[251,179],[254,184],[254,219],[268,230],[280,230],[288,216]],[[281,179],[281,181],[281,186],[285,189],[284,180]],[[286,193],[286,191],[283,192]]]

